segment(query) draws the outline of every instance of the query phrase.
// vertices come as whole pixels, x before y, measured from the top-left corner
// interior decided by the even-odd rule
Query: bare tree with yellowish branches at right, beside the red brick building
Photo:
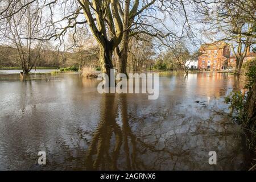
[[[236,57],[236,73],[240,74],[243,59],[255,39],[255,1],[253,0],[226,0],[210,1],[212,6],[201,2],[199,9],[203,14],[205,32],[214,42],[226,40],[230,43]],[[250,36],[248,36],[250,35]],[[208,36],[209,38],[209,36]]]

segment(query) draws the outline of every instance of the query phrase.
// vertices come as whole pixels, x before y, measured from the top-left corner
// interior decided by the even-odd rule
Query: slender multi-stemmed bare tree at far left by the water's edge
[[[22,3],[16,5],[17,8],[22,6]],[[6,20],[7,41],[17,49],[17,60],[23,73],[29,73],[39,60],[43,44],[41,40],[32,40],[35,37],[43,38],[44,36],[44,32],[40,31],[43,26],[41,11],[36,4],[27,5],[26,9],[21,9]]]

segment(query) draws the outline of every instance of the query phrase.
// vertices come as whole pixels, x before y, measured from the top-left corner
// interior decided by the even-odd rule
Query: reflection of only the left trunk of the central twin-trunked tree
[[[114,94],[105,94],[102,97],[101,120],[94,132],[90,143],[88,156],[86,157],[87,169],[106,169],[107,166],[117,168],[117,158],[122,145],[121,127],[115,121],[117,116],[117,104],[115,104]],[[110,152],[110,139],[114,134],[115,147]],[[111,153],[111,154],[110,154]],[[93,155],[96,158],[93,159]]]

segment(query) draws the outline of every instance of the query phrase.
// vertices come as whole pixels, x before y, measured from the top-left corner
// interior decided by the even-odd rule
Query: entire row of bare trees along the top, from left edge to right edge
[[[256,38],[253,0],[3,0],[0,21],[1,42],[16,49],[14,60],[24,73],[40,62],[49,41],[55,49],[68,47],[67,52],[76,53],[78,65],[87,64],[84,57],[97,58],[90,60],[108,75],[114,67],[126,75],[151,68],[154,52],[164,47],[164,55],[187,73],[184,59],[196,55],[189,48],[204,42],[200,34],[208,42],[228,42],[240,74]],[[144,52],[138,53],[142,47]],[[142,66],[142,57],[149,55]]]

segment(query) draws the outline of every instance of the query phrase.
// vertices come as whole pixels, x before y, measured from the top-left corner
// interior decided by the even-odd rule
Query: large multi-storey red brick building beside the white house
[[[225,42],[204,44],[199,51],[198,69],[217,71],[228,67],[230,47]]]

